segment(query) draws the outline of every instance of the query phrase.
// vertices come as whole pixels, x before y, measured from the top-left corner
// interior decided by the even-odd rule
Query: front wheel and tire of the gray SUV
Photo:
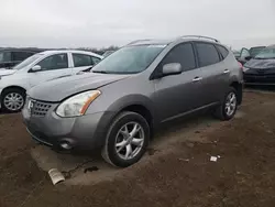
[[[129,135],[133,132],[134,126],[140,130],[133,135],[134,138],[131,138]],[[106,162],[117,167],[128,167],[141,160],[148,141],[150,127],[145,118],[135,112],[124,111],[111,123],[101,154]],[[130,149],[132,154],[128,153],[131,151]],[[129,155],[127,156],[127,154]]]

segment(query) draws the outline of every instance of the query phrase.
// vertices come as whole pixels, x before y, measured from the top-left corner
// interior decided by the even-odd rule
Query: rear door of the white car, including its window
[[[72,53],[72,57],[74,64],[73,74],[89,70],[94,65],[101,61],[98,57],[80,53]]]

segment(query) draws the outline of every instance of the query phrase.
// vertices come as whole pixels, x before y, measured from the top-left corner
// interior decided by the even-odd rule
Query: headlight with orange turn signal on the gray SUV
[[[99,90],[89,90],[75,95],[63,101],[56,109],[59,117],[78,117],[85,115],[89,105],[100,95]]]

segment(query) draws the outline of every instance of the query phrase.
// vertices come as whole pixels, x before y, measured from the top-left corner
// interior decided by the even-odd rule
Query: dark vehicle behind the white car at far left
[[[0,50],[0,68],[11,68],[28,57],[40,53],[40,50]]]

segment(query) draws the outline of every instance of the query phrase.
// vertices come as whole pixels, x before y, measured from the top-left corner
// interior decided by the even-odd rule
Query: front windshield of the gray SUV
[[[106,57],[92,69],[105,74],[136,74],[145,70],[166,45],[123,47]]]

